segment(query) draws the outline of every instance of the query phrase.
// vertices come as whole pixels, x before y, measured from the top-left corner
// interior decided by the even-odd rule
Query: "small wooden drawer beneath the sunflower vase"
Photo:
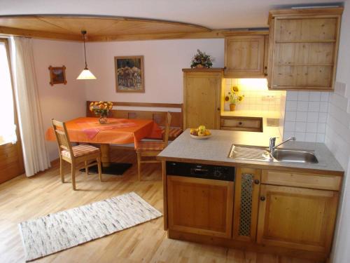
[[[262,118],[221,116],[221,130],[262,132]]]

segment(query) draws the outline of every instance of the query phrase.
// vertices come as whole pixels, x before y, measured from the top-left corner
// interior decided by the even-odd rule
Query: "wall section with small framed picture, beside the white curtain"
[[[85,116],[85,81],[76,77],[83,69],[82,43],[34,39],[34,65],[43,117],[43,126],[51,126],[51,118],[67,121]],[[66,85],[50,86],[48,67],[66,67]],[[57,159],[56,142],[46,142],[50,160]]]

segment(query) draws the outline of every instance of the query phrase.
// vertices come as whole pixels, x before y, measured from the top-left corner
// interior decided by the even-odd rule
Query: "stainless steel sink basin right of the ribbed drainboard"
[[[272,157],[281,162],[318,163],[316,156],[311,151],[275,149]]]

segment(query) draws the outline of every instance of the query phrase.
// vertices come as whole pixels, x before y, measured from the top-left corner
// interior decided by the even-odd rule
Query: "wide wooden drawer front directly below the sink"
[[[342,177],[309,173],[286,173],[279,170],[262,170],[261,183],[289,187],[304,187],[339,191]]]

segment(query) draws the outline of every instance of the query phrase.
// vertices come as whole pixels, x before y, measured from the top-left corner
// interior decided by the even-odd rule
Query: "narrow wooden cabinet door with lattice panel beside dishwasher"
[[[261,171],[237,168],[235,182],[235,212],[233,238],[254,242],[258,220]]]

